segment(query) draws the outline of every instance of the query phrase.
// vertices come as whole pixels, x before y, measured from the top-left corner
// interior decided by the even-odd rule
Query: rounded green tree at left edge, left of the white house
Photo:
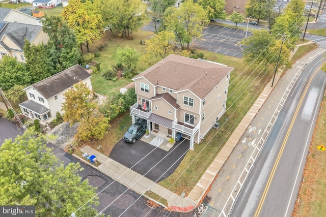
[[[16,58],[5,55],[0,63],[0,87],[4,90],[10,89],[15,84],[28,85],[31,78],[22,63]]]

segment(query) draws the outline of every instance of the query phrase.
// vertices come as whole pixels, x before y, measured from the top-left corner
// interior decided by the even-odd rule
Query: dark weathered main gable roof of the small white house
[[[75,83],[83,81],[89,77],[91,77],[91,75],[84,68],[75,65],[42,81],[32,84],[31,86],[45,97],[45,99],[49,99],[60,94],[60,92],[69,87],[72,87]]]

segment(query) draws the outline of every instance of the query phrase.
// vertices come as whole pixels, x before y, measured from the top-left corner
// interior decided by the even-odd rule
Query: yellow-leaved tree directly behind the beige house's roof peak
[[[146,41],[146,53],[142,56],[142,60],[152,66],[173,53],[174,45],[175,36],[172,32],[159,32]]]

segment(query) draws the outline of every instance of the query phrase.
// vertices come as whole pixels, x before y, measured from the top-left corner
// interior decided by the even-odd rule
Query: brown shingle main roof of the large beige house
[[[204,99],[233,68],[201,59],[171,54],[139,74],[154,86],[175,91],[190,90]]]

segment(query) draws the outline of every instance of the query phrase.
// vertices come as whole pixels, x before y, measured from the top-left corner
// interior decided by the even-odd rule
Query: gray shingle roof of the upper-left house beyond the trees
[[[0,40],[6,35],[22,51],[25,44],[24,39],[33,41],[41,29],[40,25],[8,22],[0,31]]]

